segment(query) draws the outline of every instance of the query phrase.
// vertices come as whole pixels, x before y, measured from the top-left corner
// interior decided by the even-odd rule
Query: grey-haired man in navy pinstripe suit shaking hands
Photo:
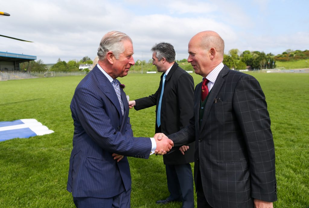
[[[73,150],[67,190],[78,208],[130,207],[131,175],[127,156],[148,159],[168,152],[164,138],[133,137],[129,105],[117,77],[134,65],[132,40],[125,33],[104,35],[98,64],[81,80],[70,105]]]

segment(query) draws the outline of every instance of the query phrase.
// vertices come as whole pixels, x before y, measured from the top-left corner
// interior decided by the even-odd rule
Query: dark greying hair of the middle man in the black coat
[[[152,48],[151,51],[156,53],[156,57],[158,61],[160,61],[163,57],[167,60],[167,62],[172,63],[175,61],[175,50],[174,46],[170,43],[156,43]]]

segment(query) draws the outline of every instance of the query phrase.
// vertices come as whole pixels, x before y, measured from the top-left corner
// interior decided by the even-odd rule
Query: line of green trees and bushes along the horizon
[[[276,61],[293,61],[299,59],[309,59],[309,50],[291,50],[288,49],[282,54],[274,55],[272,53],[265,54],[263,51],[249,51],[245,50],[242,53],[238,49],[229,50],[228,54],[223,55],[223,63],[229,68],[234,69],[273,69],[276,67]],[[186,63],[187,59],[178,60],[179,63]],[[70,60],[68,62],[61,61],[59,58],[57,63],[48,69],[47,65],[42,60],[30,61],[20,63],[21,70],[27,69],[30,72],[44,72],[44,71],[57,71],[57,72],[77,72],[80,71],[80,64],[92,64],[92,60],[85,56],[81,60]],[[155,66],[152,65],[152,59],[146,63],[145,60],[137,60],[135,66],[140,69],[142,66],[147,68],[147,71],[156,71]],[[185,70],[192,70],[190,65],[183,66]],[[131,68],[132,69],[132,68]],[[133,69],[134,70],[134,67]]]

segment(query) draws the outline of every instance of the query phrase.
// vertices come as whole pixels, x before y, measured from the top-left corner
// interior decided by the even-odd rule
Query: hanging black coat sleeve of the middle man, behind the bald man
[[[179,128],[182,129],[189,124],[189,120],[193,117],[194,82],[188,73],[181,75],[177,80],[177,95],[180,115]]]

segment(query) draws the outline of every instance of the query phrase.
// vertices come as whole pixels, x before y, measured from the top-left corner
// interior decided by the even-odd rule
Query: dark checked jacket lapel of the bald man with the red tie
[[[204,128],[206,121],[208,119],[209,112],[211,110],[211,106],[214,103],[214,99],[217,98],[218,93],[220,92],[223,83],[225,80],[223,79],[223,76],[225,76],[228,73],[228,68],[224,65],[222,70],[219,72],[218,77],[214,83],[214,86],[212,87],[209,97],[207,98],[206,104],[205,104],[205,109],[204,109],[204,114],[203,114],[203,121],[200,126],[200,132]]]

